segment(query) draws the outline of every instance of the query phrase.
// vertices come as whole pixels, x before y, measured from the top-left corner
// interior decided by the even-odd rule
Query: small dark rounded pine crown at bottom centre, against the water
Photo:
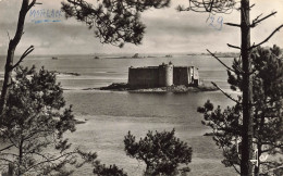
[[[153,134],[136,142],[130,131],[125,136],[125,151],[131,158],[144,161],[147,165],[146,175],[174,175],[179,164],[192,161],[192,148],[174,136],[175,130]]]

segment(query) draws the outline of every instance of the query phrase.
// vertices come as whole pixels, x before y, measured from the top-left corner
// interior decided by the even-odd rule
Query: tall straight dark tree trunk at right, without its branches
[[[253,80],[250,76],[250,22],[249,0],[241,1],[241,35],[242,35],[242,61],[243,61],[243,134],[242,134],[242,160],[241,175],[253,175]]]

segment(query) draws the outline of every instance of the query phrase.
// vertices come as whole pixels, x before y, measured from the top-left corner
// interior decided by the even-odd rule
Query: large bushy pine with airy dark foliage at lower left
[[[15,175],[71,175],[71,165],[96,164],[96,153],[71,149],[63,137],[75,131],[72,106],[65,108],[54,73],[15,68],[2,116],[0,164]],[[70,166],[69,166],[70,165]],[[70,168],[67,168],[67,166]]]

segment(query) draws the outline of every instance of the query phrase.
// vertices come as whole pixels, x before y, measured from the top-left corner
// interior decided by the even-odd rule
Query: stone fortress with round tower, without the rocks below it
[[[195,66],[174,66],[172,62],[159,66],[128,67],[131,88],[155,88],[168,86],[199,85],[198,68]]]

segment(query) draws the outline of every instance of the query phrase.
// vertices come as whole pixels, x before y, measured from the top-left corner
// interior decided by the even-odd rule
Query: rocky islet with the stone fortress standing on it
[[[188,92],[212,91],[217,88],[205,86],[199,80],[195,66],[174,66],[172,62],[159,66],[128,68],[128,83],[115,83],[100,90],[132,92]]]

